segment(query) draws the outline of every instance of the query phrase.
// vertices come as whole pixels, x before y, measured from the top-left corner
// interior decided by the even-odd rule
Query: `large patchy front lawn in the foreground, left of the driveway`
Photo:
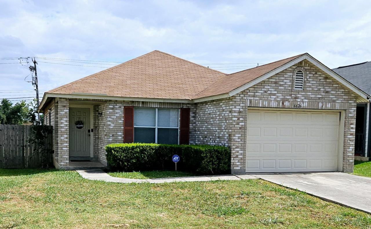
[[[263,180],[123,184],[0,169],[0,228],[370,228],[371,216]]]

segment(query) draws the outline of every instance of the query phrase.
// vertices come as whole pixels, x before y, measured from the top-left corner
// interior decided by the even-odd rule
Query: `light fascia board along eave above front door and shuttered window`
[[[40,103],[40,108],[46,102],[47,98],[68,98],[68,99],[103,99],[103,100],[118,100],[118,101],[144,101],[144,102],[181,102],[181,103],[192,103],[191,99],[157,99],[157,98],[135,98],[135,97],[120,97],[120,96],[106,96],[97,94],[53,94],[45,93]]]

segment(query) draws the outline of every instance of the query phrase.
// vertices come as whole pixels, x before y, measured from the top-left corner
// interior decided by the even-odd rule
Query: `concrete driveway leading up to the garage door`
[[[347,173],[254,174],[323,200],[371,213],[371,178]]]

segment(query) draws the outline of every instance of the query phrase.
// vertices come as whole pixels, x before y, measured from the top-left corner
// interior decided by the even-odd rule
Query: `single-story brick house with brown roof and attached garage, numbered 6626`
[[[50,90],[39,108],[57,168],[155,142],[226,145],[232,173],[351,172],[368,96],[308,53],[225,74],[155,50]]]

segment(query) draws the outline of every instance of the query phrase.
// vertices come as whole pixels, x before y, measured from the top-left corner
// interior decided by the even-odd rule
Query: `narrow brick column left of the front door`
[[[59,166],[69,166],[69,101],[58,102],[58,158]]]

